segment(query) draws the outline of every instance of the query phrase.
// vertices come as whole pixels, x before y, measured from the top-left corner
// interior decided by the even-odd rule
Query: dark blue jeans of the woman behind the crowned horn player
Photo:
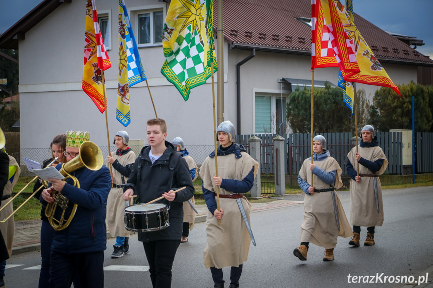
[[[42,221],[41,225],[41,273],[39,274],[39,288],[47,288],[50,280],[51,244],[53,243],[54,229],[48,221]],[[75,274],[74,288],[81,288],[80,276]],[[68,287],[70,287],[69,284]]]

